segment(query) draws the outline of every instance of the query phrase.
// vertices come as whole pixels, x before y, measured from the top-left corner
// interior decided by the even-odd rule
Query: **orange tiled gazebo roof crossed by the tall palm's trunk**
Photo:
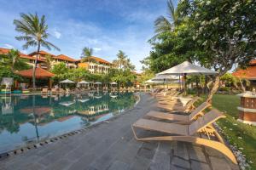
[[[28,69],[28,70],[24,70],[24,71],[18,71],[17,74],[19,74],[22,77],[32,77],[32,72],[33,69]],[[55,74],[46,71],[42,68],[37,68],[36,69],[36,77],[38,78],[43,78],[43,77],[54,77]]]

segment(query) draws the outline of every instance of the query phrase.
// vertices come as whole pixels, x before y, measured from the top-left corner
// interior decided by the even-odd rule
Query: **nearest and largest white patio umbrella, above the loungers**
[[[184,90],[186,90],[186,76],[187,75],[214,75],[217,74],[217,71],[211,71],[207,68],[192,65],[189,61],[184,61],[180,65],[176,65],[166,71],[162,71],[160,75],[176,75],[184,77]]]

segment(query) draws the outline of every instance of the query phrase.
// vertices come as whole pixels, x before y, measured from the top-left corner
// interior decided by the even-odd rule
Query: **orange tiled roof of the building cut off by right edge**
[[[250,65],[245,70],[237,70],[232,75],[234,77],[247,78],[248,80],[256,80],[256,65]]]

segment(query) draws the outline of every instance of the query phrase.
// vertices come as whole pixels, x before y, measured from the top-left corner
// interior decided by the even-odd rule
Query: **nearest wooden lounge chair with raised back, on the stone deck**
[[[231,161],[237,164],[236,157],[232,151],[224,144],[224,139],[218,134],[215,128],[212,127],[212,122],[216,122],[219,118],[225,117],[218,110],[207,112],[204,116],[199,117],[195,122],[189,125],[181,125],[176,123],[158,122],[148,119],[139,119],[131,128],[134,136],[140,141],[183,141],[195,144],[202,144],[222,152],[229,157]],[[157,136],[138,138],[135,128],[143,128],[148,131],[168,133],[169,136]],[[195,136],[196,133],[206,134],[208,139],[203,139]],[[217,138],[218,141],[212,140]]]

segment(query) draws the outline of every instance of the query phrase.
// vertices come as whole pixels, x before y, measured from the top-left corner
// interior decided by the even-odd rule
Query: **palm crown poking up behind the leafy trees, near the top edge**
[[[167,1],[167,17],[160,15],[155,21],[155,32],[157,34],[160,34],[162,32],[166,31],[172,31],[174,26],[177,24],[178,17],[177,12],[174,8],[174,4],[172,3],[172,0]]]

